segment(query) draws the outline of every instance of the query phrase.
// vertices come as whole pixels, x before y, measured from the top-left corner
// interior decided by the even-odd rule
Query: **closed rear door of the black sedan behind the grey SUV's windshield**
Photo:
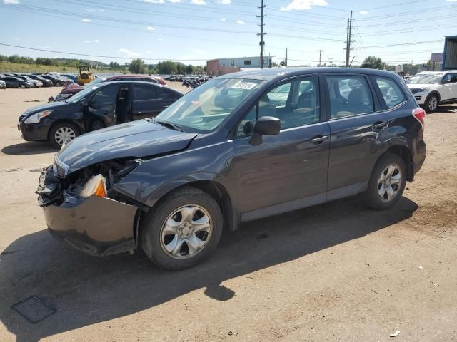
[[[133,120],[154,118],[177,99],[169,89],[155,86],[154,83],[134,84],[132,103]]]

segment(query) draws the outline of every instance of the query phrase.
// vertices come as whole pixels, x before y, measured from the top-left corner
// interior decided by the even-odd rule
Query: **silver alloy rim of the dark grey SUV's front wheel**
[[[161,228],[161,247],[175,259],[194,257],[208,244],[212,232],[208,211],[196,204],[172,212]]]

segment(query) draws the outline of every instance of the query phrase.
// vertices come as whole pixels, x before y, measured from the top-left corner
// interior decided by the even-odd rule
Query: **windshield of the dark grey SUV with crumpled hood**
[[[259,80],[214,78],[177,100],[156,117],[158,122],[209,132],[221,124],[248,95]]]

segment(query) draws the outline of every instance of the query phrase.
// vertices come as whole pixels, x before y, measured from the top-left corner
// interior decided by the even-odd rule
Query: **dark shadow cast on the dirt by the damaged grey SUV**
[[[357,197],[243,224],[224,234],[209,260],[185,271],[157,269],[142,253],[94,258],[54,240],[46,230],[21,237],[1,253],[0,320],[19,342],[134,314],[196,289],[230,301],[227,279],[293,261],[343,244],[412,216],[405,197],[388,211],[362,206]],[[29,323],[11,305],[36,295],[56,313]]]

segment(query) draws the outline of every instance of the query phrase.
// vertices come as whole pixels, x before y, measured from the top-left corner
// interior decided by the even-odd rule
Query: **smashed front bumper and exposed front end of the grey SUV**
[[[141,160],[111,160],[74,172],[66,178],[52,167],[41,173],[39,205],[49,232],[81,252],[105,256],[136,248],[141,210],[148,208],[113,189]],[[106,196],[84,195],[84,185],[101,175]]]

